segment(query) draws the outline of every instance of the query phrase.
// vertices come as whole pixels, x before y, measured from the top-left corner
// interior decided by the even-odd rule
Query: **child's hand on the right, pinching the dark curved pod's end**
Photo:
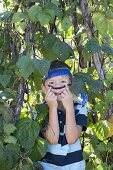
[[[64,91],[61,94],[61,101],[65,109],[73,107],[73,96],[68,86],[65,87]]]

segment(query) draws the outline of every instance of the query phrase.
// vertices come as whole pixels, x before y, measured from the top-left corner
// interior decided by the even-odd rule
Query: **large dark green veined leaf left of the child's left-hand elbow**
[[[16,138],[19,140],[20,144],[28,150],[34,146],[39,130],[38,122],[30,118],[20,119],[17,123]]]

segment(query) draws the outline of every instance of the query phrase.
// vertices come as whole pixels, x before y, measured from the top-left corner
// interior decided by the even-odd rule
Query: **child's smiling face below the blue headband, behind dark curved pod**
[[[64,91],[65,86],[70,84],[68,76],[52,77],[44,82],[45,93],[51,88],[51,91],[57,96],[57,101],[61,100],[61,93]]]

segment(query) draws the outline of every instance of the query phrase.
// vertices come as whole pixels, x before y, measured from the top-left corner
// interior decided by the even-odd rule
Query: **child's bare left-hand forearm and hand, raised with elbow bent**
[[[47,127],[44,130],[44,137],[51,144],[58,143],[59,139],[59,123],[58,123],[58,114],[57,114],[57,100],[53,92],[48,90],[45,100],[49,107],[49,122]]]

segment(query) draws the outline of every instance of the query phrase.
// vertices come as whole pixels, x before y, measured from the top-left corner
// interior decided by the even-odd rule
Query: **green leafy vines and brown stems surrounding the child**
[[[112,0],[0,2],[0,168],[37,170],[47,150],[42,77],[50,61],[72,67],[74,93],[87,93],[86,170],[113,169]],[[2,11],[3,9],[3,11]]]

